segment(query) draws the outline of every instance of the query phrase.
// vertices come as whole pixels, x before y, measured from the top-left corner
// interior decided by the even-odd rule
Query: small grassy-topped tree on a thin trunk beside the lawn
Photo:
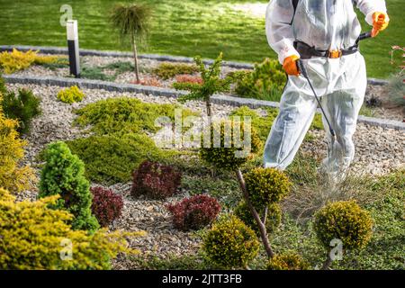
[[[146,4],[116,4],[110,16],[112,26],[119,31],[121,41],[130,40],[137,83],[140,81],[137,42],[145,40],[148,34],[150,16],[151,9]]]

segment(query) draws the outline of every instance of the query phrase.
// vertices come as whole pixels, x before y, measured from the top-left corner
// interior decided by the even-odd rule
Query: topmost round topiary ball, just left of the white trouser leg
[[[210,147],[204,147],[204,137],[202,137],[202,148],[200,148],[200,157],[202,160],[217,168],[235,170],[247,162],[247,160],[251,157],[251,153],[256,153],[259,150],[262,142],[257,134],[257,131],[253,128],[251,129],[250,133],[250,149],[245,151],[243,148],[238,148],[238,143],[235,140],[235,138],[238,137],[238,134],[235,133],[235,131],[237,131],[237,129],[240,130],[239,141],[243,146],[243,142],[245,140],[245,125],[241,121],[240,126],[236,127],[235,123],[235,121],[220,121],[218,123],[211,124]],[[226,139],[225,137],[225,131],[228,130],[226,127],[231,128],[231,132],[228,137],[229,139]],[[217,144],[214,141],[214,139],[217,138],[220,139],[220,147],[216,147],[219,146],[219,143]]]

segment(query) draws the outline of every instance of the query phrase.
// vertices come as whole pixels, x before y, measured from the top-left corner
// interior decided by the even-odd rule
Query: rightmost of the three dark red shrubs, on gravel
[[[166,205],[173,214],[175,228],[184,231],[210,225],[220,213],[220,203],[207,195],[194,195],[181,202]]]

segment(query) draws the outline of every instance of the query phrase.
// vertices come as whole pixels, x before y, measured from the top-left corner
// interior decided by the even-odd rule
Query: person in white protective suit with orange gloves
[[[293,162],[317,110],[311,87],[297,68],[300,58],[336,132],[335,140],[326,129],[329,155],[323,167],[338,175],[353,160],[352,137],[367,84],[365,59],[356,45],[361,26],[355,4],[374,26],[373,37],[388,26],[383,0],[272,0],[268,4],[267,40],[278,54],[288,82],[266,141],[266,167],[284,170]],[[325,117],[323,122],[327,128]]]

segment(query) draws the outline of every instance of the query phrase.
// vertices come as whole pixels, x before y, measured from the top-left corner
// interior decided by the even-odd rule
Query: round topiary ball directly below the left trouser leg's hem
[[[258,167],[245,175],[247,193],[255,207],[280,202],[290,193],[291,182],[284,172],[275,168]]]

